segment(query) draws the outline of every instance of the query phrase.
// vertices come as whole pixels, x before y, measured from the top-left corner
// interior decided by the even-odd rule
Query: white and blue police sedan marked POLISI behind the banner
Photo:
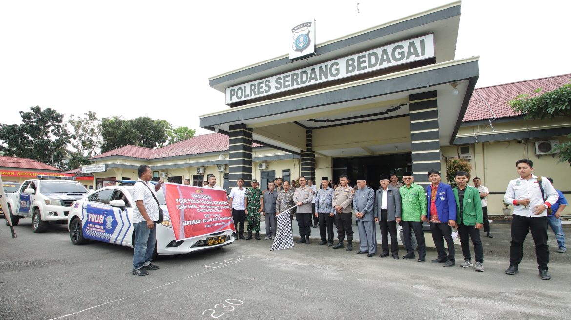
[[[135,181],[116,182],[119,185],[101,188],[71,205],[68,216],[71,243],[82,245],[96,240],[133,247],[135,233],[131,221],[135,202],[132,185]],[[162,190],[156,192],[156,196],[164,212],[164,221],[156,225],[155,255],[191,253],[234,242],[231,230],[175,241]]]

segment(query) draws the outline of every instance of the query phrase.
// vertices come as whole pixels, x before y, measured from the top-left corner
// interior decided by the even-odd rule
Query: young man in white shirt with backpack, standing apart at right
[[[509,254],[509,268],[506,274],[518,273],[517,266],[524,256],[524,241],[532,231],[536,245],[539,275],[543,280],[551,280],[547,271],[549,246],[547,245],[547,210],[557,202],[559,195],[546,177],[533,175],[533,161],[518,160],[517,173],[520,177],[509,181],[504,202],[514,206],[512,220],[512,246]]]

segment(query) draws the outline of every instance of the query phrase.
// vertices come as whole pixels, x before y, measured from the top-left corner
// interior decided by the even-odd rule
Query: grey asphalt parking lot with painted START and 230
[[[484,239],[484,273],[366,257],[316,241],[270,252],[271,240],[240,240],[163,257],[146,277],[130,274],[130,248],[74,246],[64,225],[43,234],[32,233],[29,220],[15,228],[12,239],[0,226],[5,320],[569,318],[571,253],[554,252],[550,238],[553,281],[540,280],[528,236],[520,274],[506,276],[509,224],[494,225],[496,237]],[[427,260],[435,256],[429,250]],[[458,246],[456,258],[462,260]]]

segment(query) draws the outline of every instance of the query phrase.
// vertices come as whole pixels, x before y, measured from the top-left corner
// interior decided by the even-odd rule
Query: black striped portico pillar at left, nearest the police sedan
[[[244,187],[251,187],[252,180],[252,131],[246,124],[230,125],[230,161],[228,180],[235,187],[239,178],[244,179]]]

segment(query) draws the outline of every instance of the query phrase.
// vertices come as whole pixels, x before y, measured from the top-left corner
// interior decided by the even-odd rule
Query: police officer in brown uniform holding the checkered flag
[[[313,216],[313,190],[305,185],[305,177],[299,177],[299,187],[293,193],[293,202],[297,205],[296,220],[299,226],[299,241],[297,244],[309,244],[311,235],[311,216]]]

